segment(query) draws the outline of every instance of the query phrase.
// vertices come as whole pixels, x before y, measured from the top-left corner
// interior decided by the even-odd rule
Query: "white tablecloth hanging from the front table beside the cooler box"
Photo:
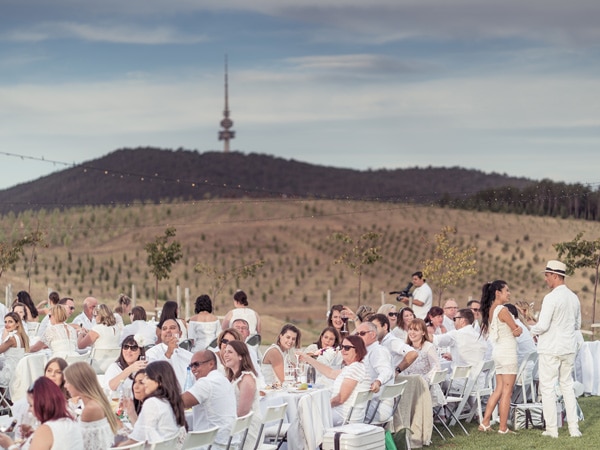
[[[288,450],[314,450],[323,442],[325,430],[333,426],[330,398],[328,389],[313,388],[301,393],[268,391],[261,398],[260,407],[264,413],[268,406],[287,403]]]

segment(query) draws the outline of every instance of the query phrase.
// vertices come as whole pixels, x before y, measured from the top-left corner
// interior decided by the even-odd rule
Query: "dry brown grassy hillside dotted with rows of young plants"
[[[546,293],[540,271],[556,257],[552,244],[580,231],[584,238],[598,237],[597,223],[575,220],[376,202],[222,200],[8,215],[2,219],[0,239],[10,241],[38,226],[44,231],[49,245],[36,249],[31,266],[34,300],[52,288],[76,299],[94,295],[113,304],[120,292],[130,292],[135,284],[138,301],[150,305],[154,280],[143,246],[174,226],[184,257],[171,279],[160,283],[160,298],[174,299],[176,285],[190,288],[193,299],[208,291],[210,280],[193,270],[197,263],[234,267],[260,258],[265,264],[255,278],[225,287],[215,301],[217,314],[231,308],[231,295],[241,288],[251,307],[277,319],[269,321],[267,339],[281,321],[298,323],[312,339],[325,321],[328,289],[334,303],[354,307],[359,301],[357,277],[333,264],[341,252],[341,244],[329,239],[334,231],[383,235],[379,242],[383,259],[363,274],[360,299],[377,305],[382,292],[385,301],[395,302],[387,292],[406,285],[429,255],[424,241],[433,240],[447,225],[458,229],[458,241],[478,248],[478,275],[444,295],[455,297],[460,305],[478,297],[484,281],[502,278],[513,299],[534,301],[539,309]],[[3,286],[11,284],[13,293],[28,288],[31,249],[26,253],[0,280]],[[579,271],[569,285],[578,292],[585,312],[591,313],[593,272]],[[589,324],[591,314],[584,317]]]

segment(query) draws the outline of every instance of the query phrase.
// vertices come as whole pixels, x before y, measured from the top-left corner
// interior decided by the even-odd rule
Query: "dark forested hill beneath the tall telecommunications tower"
[[[121,149],[0,191],[0,213],[208,198],[316,198],[429,204],[532,180],[463,168],[358,171],[268,155]]]

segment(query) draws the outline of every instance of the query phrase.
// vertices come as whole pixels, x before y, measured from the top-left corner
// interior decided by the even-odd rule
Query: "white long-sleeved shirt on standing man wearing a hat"
[[[538,338],[538,353],[567,355],[577,353],[581,328],[579,298],[566,285],[556,286],[542,302],[538,322],[529,330]]]

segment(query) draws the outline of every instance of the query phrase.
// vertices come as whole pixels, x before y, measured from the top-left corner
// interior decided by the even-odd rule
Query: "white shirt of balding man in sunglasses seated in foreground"
[[[198,378],[188,392],[198,401],[192,408],[193,431],[219,427],[215,443],[226,446],[233,421],[237,417],[233,385],[218,370]]]

